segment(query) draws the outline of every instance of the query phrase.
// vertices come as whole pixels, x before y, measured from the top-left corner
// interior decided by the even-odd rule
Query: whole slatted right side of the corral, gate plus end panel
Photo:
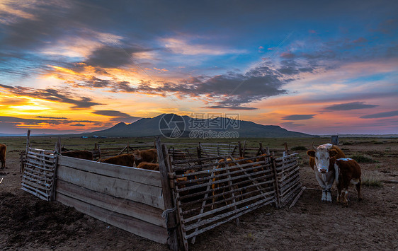
[[[186,148],[169,147],[161,153],[167,159],[180,245],[185,250],[188,240],[194,243],[197,235],[228,221],[239,225],[239,216],[261,206],[285,206],[300,192],[298,153],[289,155],[285,149],[261,144],[239,145],[199,145],[200,158],[188,158]],[[275,158],[275,151],[282,156]]]

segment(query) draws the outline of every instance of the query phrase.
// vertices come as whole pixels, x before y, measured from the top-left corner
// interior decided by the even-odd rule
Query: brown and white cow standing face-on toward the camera
[[[312,146],[314,148],[314,146]],[[343,151],[332,144],[323,144],[307,151],[309,165],[322,187],[322,202],[331,202],[331,186],[339,173],[334,168],[336,158],[346,158]]]

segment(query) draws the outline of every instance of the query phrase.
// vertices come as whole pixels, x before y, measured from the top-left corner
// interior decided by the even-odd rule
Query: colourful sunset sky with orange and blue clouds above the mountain
[[[0,0],[0,134],[163,113],[398,134],[398,1]]]

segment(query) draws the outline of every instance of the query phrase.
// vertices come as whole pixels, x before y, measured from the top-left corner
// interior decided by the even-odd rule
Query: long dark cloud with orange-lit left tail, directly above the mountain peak
[[[131,87],[127,81],[113,83],[113,92],[147,93],[154,95],[174,94],[179,98],[204,98],[209,107],[255,110],[242,106],[275,95],[284,94],[283,85],[292,79],[283,76],[267,66],[258,66],[246,74],[227,72],[217,76],[195,76],[173,82],[157,82],[159,87],[152,87],[152,81],[140,81],[137,87]]]

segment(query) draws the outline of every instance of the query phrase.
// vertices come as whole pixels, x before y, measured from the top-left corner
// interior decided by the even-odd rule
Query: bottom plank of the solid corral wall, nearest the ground
[[[142,236],[149,240],[154,240],[157,243],[167,243],[166,228],[161,226],[156,226],[152,223],[147,223],[125,214],[119,214],[115,211],[102,209],[101,207],[82,202],[79,199],[67,197],[60,193],[57,194],[57,201],[67,206],[73,206],[77,211],[81,211],[84,214],[98,218],[100,221],[104,221],[110,225],[122,228],[123,230],[127,230],[135,235]]]

